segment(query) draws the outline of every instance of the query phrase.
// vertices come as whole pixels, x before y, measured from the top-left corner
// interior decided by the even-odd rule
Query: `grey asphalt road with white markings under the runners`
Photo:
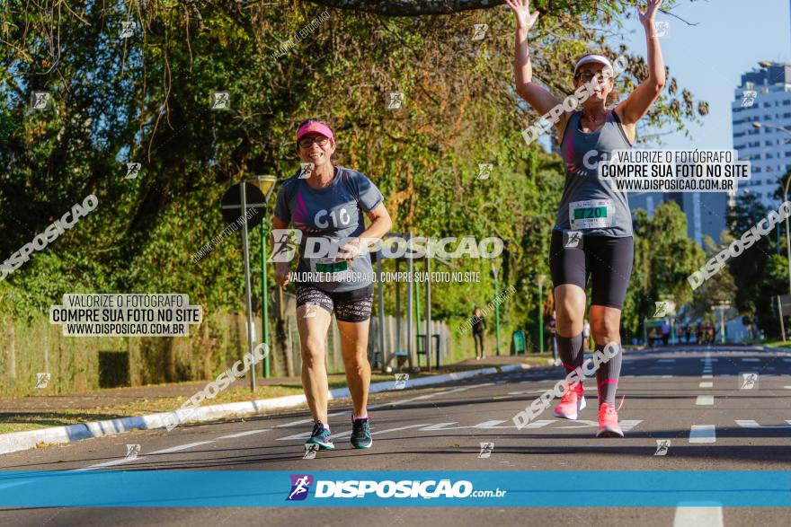
[[[758,373],[749,387],[742,373]],[[751,347],[671,347],[627,353],[619,412],[624,439],[597,439],[595,383],[580,420],[547,410],[511,421],[561,376],[534,368],[377,394],[373,448],[351,449],[349,403],[331,404],[337,450],[303,459],[305,409],[172,432],[137,431],[0,456],[0,470],[789,470],[791,354]],[[657,442],[670,440],[665,455]],[[493,443],[487,458],[481,443]],[[139,444],[134,460],[128,444]],[[239,489],[244,492],[246,489]],[[2,491],[0,491],[2,492]],[[791,504],[791,499],[789,499]],[[0,510],[16,525],[787,525],[787,508],[316,507],[36,508]]]

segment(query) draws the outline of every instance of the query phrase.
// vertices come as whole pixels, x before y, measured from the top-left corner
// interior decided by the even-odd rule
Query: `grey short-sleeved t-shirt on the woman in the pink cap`
[[[376,208],[384,199],[367,177],[340,166],[335,167],[334,178],[324,189],[313,189],[298,175],[283,181],[275,215],[302,232],[297,272],[324,272],[323,281],[311,283],[328,292],[353,291],[372,284],[373,267],[367,250],[351,262],[334,262],[332,258],[306,259],[304,255],[307,242],[312,238],[325,238],[338,247],[344,239],[359,236],[365,231],[364,213]]]

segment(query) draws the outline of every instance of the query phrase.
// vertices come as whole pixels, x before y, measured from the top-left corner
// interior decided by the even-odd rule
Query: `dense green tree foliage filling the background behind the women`
[[[9,0],[0,22],[2,258],[86,195],[100,205],[0,282],[3,311],[43,311],[76,291],[178,292],[204,310],[237,308],[238,239],[197,263],[191,256],[225,228],[218,203],[231,184],[293,174],[295,127],[315,116],[335,128],[340,162],[382,190],[394,230],[500,236],[501,289],[519,292],[505,316],[526,323],[535,277],[548,275],[564,172],[521,137],[538,116],[513,91],[512,15],[478,9],[501,3]],[[573,92],[574,58],[591,49],[627,56],[621,92],[644,77],[644,49],[609,45],[637,23],[630,2],[536,6],[533,64],[553,92]],[[425,14],[383,16],[416,13]],[[128,37],[122,22],[132,22]],[[476,24],[485,24],[482,39],[473,38]],[[642,136],[704,113],[676,79],[669,86]],[[51,94],[49,110],[31,109],[36,91]],[[229,92],[230,110],[211,109],[213,92]],[[403,94],[398,109],[392,93]],[[125,178],[127,162],[141,163],[136,179]],[[493,165],[487,180],[476,178],[480,163]],[[495,296],[488,262],[455,263],[484,278],[437,285],[437,317]],[[656,272],[640,291],[671,290],[684,274]]]

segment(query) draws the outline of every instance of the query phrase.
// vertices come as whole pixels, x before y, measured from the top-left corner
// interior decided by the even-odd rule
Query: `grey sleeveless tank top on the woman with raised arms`
[[[557,210],[555,231],[582,231],[586,236],[632,235],[632,213],[627,195],[599,179],[599,162],[609,160],[613,150],[632,145],[615,111],[608,110],[604,124],[592,134],[580,129],[582,111],[576,111],[565,127],[560,154],[565,164],[565,188]]]

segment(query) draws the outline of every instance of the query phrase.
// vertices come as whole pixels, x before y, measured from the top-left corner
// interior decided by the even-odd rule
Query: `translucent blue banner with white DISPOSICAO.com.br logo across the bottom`
[[[0,507],[787,507],[791,472],[0,470]]]

